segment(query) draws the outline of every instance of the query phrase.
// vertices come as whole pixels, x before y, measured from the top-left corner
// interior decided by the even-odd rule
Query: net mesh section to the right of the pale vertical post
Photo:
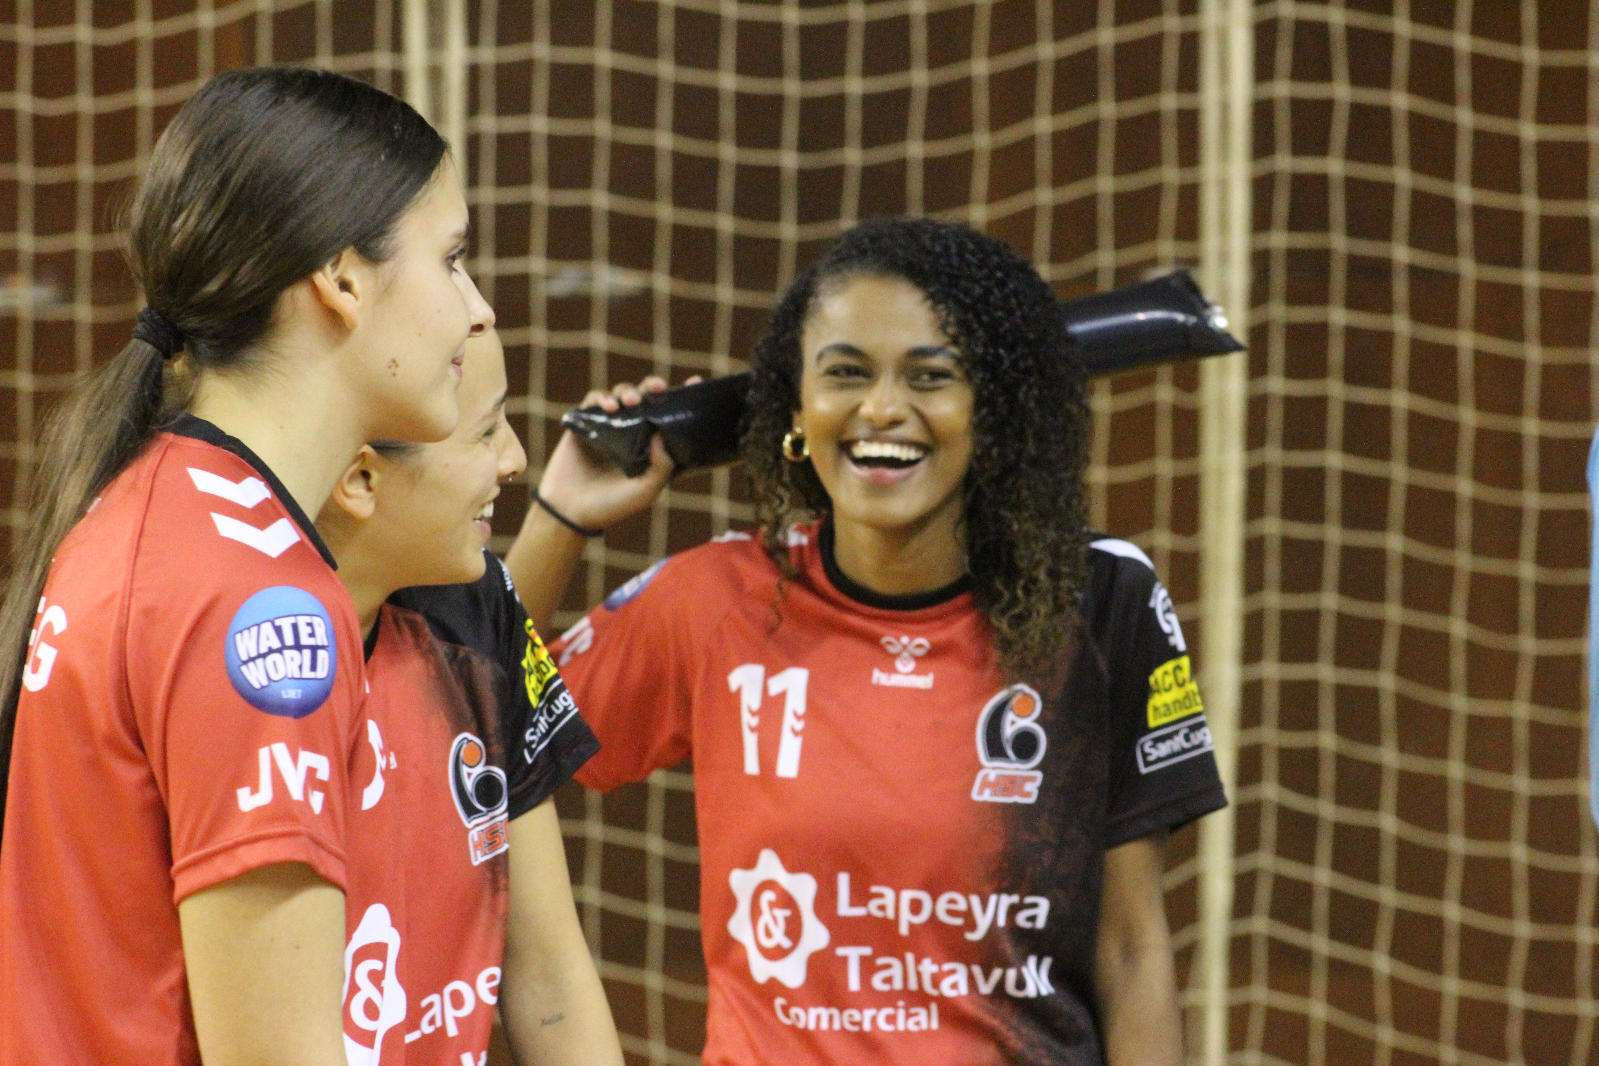
[[[1234,1056],[1588,1063],[1599,21],[1258,13]]]

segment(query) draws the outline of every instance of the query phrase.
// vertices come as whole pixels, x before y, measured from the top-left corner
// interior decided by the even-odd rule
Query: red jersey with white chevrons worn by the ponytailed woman
[[[345,884],[360,626],[249,449],[185,417],[62,540],[0,849],[0,1063],[198,1063],[177,903]]]

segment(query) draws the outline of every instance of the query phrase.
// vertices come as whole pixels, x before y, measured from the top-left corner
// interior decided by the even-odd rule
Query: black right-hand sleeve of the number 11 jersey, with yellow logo
[[[1091,630],[1110,681],[1110,849],[1218,810],[1226,796],[1166,587],[1132,545],[1102,540],[1095,548]]]

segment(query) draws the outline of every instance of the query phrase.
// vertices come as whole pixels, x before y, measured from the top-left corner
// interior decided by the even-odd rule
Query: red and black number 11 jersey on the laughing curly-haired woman
[[[670,558],[553,646],[593,788],[694,758],[705,1061],[1100,1063],[1110,847],[1222,807],[1182,628],[1100,540],[1052,681],[959,587],[884,598],[790,534]]]

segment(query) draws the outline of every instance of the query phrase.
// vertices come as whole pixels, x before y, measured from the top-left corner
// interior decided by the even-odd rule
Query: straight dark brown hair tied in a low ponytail
[[[278,296],[345,249],[387,259],[400,217],[445,150],[405,101],[353,78],[297,67],[219,75],[184,104],[150,155],[130,213],[133,276],[182,336],[190,369],[251,372],[270,363],[259,342]],[[74,384],[45,424],[0,601],[6,770],[50,559],[161,425],[161,352],[134,339]]]

